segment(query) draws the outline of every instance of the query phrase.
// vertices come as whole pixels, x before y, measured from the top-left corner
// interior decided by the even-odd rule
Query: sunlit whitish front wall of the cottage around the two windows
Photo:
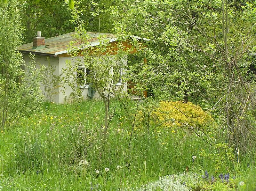
[[[105,56],[105,55],[102,55],[102,56]],[[115,55],[112,55],[112,56],[114,57]],[[61,70],[63,68],[66,68],[66,63],[67,62],[70,62],[73,66],[75,66],[75,62],[76,62],[77,59],[81,60],[81,62],[83,62],[83,58],[80,57],[80,56],[76,56],[76,57],[59,57],[59,71],[58,72],[61,73]],[[123,64],[127,65],[127,56],[124,57]],[[110,71],[110,73],[112,73],[112,71]],[[125,74],[125,70],[123,71],[123,74]],[[120,87],[121,87],[121,85],[116,85],[116,88],[120,88]],[[64,93],[64,89],[65,89],[65,93]],[[81,90],[82,90],[83,98],[87,99],[88,98],[88,96],[87,96],[87,94],[88,94],[88,87],[81,88]],[[127,91],[127,82],[124,83],[123,90]],[[68,99],[68,97],[72,93],[72,89],[68,85],[66,85],[65,87],[61,86],[59,88],[59,92],[60,92],[59,93],[59,103],[64,103],[65,99]],[[97,92],[94,94],[93,99],[100,99],[100,96],[99,96],[99,94]]]

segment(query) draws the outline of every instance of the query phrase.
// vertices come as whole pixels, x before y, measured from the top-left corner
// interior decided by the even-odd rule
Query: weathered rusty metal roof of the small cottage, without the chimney
[[[45,46],[39,46],[39,47],[33,47],[33,42],[30,42],[28,44],[21,45],[18,50],[23,53],[34,53],[34,54],[40,54],[40,55],[60,55],[63,53],[68,52],[68,45],[70,41],[74,41],[74,46],[77,46],[78,48],[82,48],[81,40],[78,40],[74,37],[74,35],[77,34],[77,32],[62,34],[56,37],[45,39]],[[86,48],[97,46],[100,44],[100,41],[98,39],[99,35],[104,35],[106,39],[109,40],[109,42],[116,41],[117,38],[114,34],[110,33],[94,33],[94,32],[87,32],[87,35],[89,36],[89,45],[86,46]],[[138,36],[132,36],[136,39],[144,39],[140,38]],[[144,39],[149,40],[149,39]]]

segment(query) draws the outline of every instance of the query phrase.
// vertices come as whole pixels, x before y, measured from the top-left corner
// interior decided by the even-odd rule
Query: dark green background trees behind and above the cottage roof
[[[71,7],[75,5],[74,1],[66,1]],[[75,24],[70,22],[71,12],[67,6],[63,6],[63,0],[28,0],[21,1],[21,23],[25,28],[25,43],[31,42],[32,37],[36,35],[36,31],[42,31],[42,35],[46,38],[73,32]],[[96,5],[97,4],[97,5]],[[83,12],[81,19],[84,21],[84,28],[90,32],[109,32],[112,28],[109,22],[109,11],[107,8],[117,4],[115,0],[97,1],[91,3],[91,0],[83,0],[80,2],[79,11]],[[97,10],[100,15],[94,17],[92,12]],[[100,27],[99,27],[100,26]]]

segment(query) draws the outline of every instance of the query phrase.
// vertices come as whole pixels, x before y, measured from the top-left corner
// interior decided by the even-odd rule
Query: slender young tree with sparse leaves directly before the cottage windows
[[[68,5],[68,3],[66,3]],[[92,2],[93,5],[99,6],[97,3]],[[86,80],[82,79],[82,83],[86,81],[86,85],[91,86],[96,90],[100,99],[102,99],[105,108],[105,118],[104,125],[102,125],[102,137],[105,141],[108,131],[109,123],[115,112],[115,107],[113,111],[110,111],[111,98],[117,97],[124,88],[125,81],[121,79],[121,71],[125,71],[126,68],[126,55],[133,50],[133,48],[124,48],[123,42],[130,38],[130,34],[119,35],[115,34],[115,44],[111,45],[110,40],[107,39],[106,35],[99,35],[99,45],[91,47],[91,38],[87,35],[84,26],[86,22],[81,20],[83,16],[82,1],[75,1],[74,7],[70,6],[72,9],[73,22],[77,23],[78,26],[76,30],[78,33],[74,35],[75,39],[81,42],[81,48],[73,46],[73,42],[69,45],[69,54],[73,57],[75,56],[74,63],[67,63],[66,68],[62,70],[62,80],[65,84],[72,88],[77,102],[81,100],[81,94],[84,91],[83,87],[77,86],[76,74],[79,68],[83,67],[88,70],[83,70],[82,73],[78,73],[79,76],[86,76]],[[95,17],[100,19],[100,10],[97,8],[95,12],[92,12]],[[99,20],[100,22],[101,20]],[[100,23],[99,23],[100,27]],[[133,39],[134,40],[134,39]],[[134,40],[136,41],[136,40]],[[75,42],[74,42],[75,43]],[[64,90],[65,94],[65,90]]]

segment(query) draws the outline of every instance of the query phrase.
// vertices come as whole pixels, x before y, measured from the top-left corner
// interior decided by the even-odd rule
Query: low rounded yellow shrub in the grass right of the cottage
[[[137,128],[192,126],[198,129],[205,129],[206,124],[213,121],[210,114],[191,102],[161,101],[157,104],[151,102],[151,104],[146,104],[139,109],[136,116]]]

